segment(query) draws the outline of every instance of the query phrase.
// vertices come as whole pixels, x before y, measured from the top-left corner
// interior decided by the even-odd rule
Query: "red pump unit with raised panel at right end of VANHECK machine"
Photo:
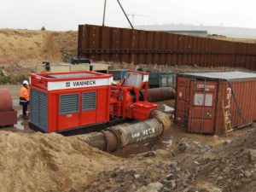
[[[141,90],[144,90],[142,93]],[[121,84],[112,85],[112,118],[146,120],[155,103],[148,102],[148,73],[128,70]]]

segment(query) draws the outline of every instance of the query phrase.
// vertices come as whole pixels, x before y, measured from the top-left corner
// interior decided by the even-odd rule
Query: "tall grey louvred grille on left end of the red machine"
[[[30,120],[41,130],[48,131],[48,96],[39,90],[31,89]]]

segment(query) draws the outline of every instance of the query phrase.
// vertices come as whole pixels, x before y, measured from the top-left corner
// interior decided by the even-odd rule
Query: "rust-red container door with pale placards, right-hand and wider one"
[[[188,131],[214,133],[217,90],[217,82],[190,82]]]

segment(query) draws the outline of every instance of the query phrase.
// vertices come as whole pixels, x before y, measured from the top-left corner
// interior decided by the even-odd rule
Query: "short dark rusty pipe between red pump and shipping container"
[[[172,87],[148,89],[148,102],[160,102],[175,99],[176,91]]]

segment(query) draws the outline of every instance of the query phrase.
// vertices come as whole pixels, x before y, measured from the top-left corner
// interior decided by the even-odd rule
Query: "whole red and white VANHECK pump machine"
[[[96,72],[37,73],[30,80],[30,125],[44,132],[70,131],[116,119],[146,120],[157,108],[147,102],[148,73],[129,70],[120,84],[113,82],[112,75]]]

